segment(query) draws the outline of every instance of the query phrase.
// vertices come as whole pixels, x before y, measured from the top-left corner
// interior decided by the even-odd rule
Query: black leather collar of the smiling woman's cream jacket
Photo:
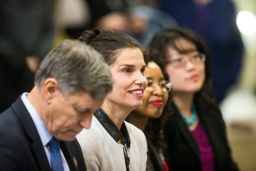
[[[124,138],[127,147],[130,148],[131,140],[124,122],[119,130],[115,123],[101,108],[94,113],[94,116],[116,142]]]

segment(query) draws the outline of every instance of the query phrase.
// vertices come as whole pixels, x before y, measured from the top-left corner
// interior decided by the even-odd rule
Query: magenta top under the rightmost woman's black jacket
[[[191,133],[199,147],[202,171],[214,171],[214,152],[212,151],[212,146],[200,121],[196,129],[191,131]]]

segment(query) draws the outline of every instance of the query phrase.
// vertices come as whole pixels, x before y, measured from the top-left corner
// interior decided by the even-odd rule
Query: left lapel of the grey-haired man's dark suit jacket
[[[12,109],[15,115],[20,119],[20,122],[22,122],[24,129],[30,138],[35,162],[38,164],[40,170],[51,170],[35,124],[20,97],[12,104]]]

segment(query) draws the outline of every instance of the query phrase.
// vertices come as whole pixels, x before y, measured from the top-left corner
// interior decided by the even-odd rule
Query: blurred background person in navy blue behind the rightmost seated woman
[[[160,9],[172,15],[179,26],[197,31],[206,40],[211,55],[214,92],[220,102],[236,83],[242,67],[243,42],[230,0],[161,0]]]

